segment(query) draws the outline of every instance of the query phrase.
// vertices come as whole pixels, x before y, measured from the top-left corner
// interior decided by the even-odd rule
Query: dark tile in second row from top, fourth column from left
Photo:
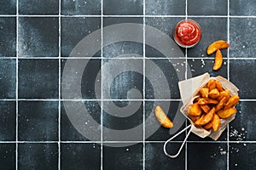
[[[140,29],[132,32],[134,37],[136,37],[140,42],[143,42],[143,18],[104,18],[104,27],[113,26],[116,24],[122,23],[136,23],[141,24]],[[116,27],[118,29],[118,27]],[[127,28],[129,30],[129,28]],[[104,58],[118,58],[118,57],[143,57],[143,43],[140,42],[131,42],[125,41],[125,39],[132,35],[116,35],[116,32],[113,31],[113,34],[109,34],[107,31],[103,31],[103,41],[104,43],[110,43],[109,45],[104,46],[103,48],[103,57]],[[119,39],[124,39],[124,41],[115,42]]]

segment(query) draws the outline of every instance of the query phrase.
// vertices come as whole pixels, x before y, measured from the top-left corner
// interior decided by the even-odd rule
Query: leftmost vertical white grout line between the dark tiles
[[[19,0],[16,0],[16,155],[15,155],[15,165],[16,170],[18,170],[18,138],[19,138]]]

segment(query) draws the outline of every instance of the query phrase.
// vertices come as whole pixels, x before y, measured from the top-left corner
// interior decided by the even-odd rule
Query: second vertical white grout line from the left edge
[[[61,170],[61,0],[59,0],[59,99],[58,99],[58,169]]]

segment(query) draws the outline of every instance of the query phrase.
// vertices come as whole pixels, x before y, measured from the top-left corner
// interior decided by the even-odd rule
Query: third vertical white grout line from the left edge
[[[102,0],[102,11],[101,11],[101,38],[102,38],[102,47],[101,47],[101,74],[103,73],[103,0]],[[103,80],[103,74],[101,81]],[[103,84],[103,83],[102,83]],[[101,84],[101,170],[103,170],[103,85]]]

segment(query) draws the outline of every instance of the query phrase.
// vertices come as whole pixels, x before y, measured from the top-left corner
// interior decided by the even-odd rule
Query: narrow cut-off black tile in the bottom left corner
[[[0,167],[4,170],[15,169],[16,144],[0,144]]]

